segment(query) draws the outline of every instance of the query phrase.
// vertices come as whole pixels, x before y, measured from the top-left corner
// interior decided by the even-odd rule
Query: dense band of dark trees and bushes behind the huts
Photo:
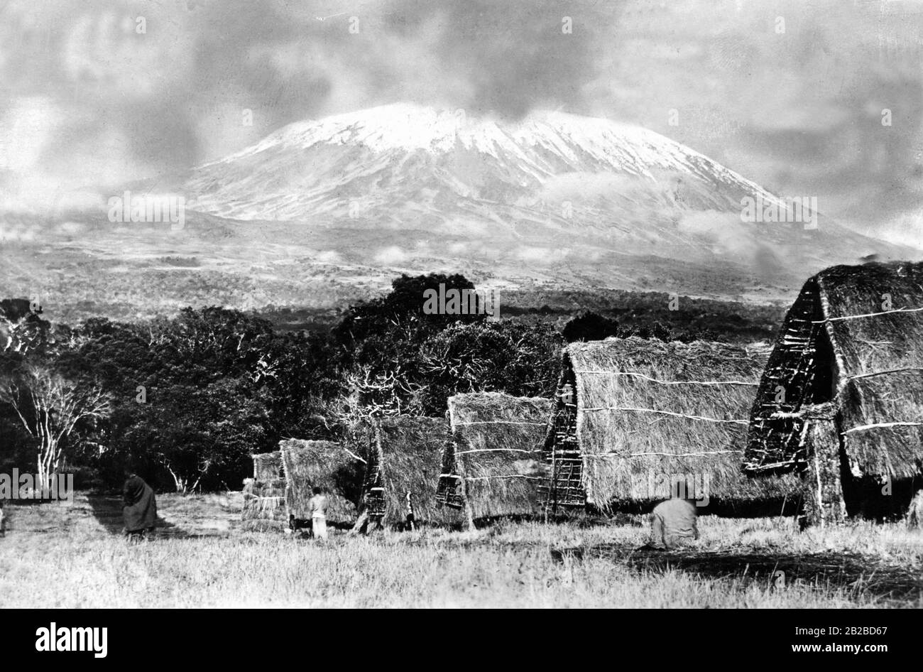
[[[98,386],[102,422],[76,433],[66,458],[86,482],[116,486],[132,466],[161,488],[238,487],[253,452],[281,438],[335,438],[355,415],[441,415],[455,392],[548,393],[559,337],[485,315],[427,315],[424,291],[473,289],[460,275],[408,277],[351,306],[329,334],[278,331],[221,307],[137,323],[92,318],[52,327],[28,302],[0,306],[25,352],[0,376],[41,360],[55,376]],[[0,465],[30,468],[30,437],[0,404]]]

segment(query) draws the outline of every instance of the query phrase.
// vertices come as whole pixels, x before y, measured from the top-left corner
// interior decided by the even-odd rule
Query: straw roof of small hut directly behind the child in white
[[[307,502],[315,486],[324,489],[328,522],[353,522],[362,486],[362,462],[339,443],[286,438],[279,442],[285,471],[285,505],[295,518],[310,517]]]

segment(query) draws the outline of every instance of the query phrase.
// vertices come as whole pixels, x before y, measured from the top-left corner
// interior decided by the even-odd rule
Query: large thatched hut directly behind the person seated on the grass
[[[779,513],[797,479],[741,470],[764,361],[717,342],[571,343],[545,439],[549,510],[643,509],[685,495],[709,511]]]

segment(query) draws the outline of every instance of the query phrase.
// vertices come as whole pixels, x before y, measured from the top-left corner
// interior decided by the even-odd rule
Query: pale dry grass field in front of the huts
[[[923,606],[918,588],[874,588],[881,568],[923,576],[923,534],[858,523],[798,534],[790,519],[701,519],[695,552],[861,554],[868,576],[787,581],[739,571],[707,575],[641,568],[594,548],[641,546],[641,518],[496,522],[476,532],[429,529],[370,537],[334,531],[326,543],[240,529],[239,493],[159,498],[162,529],[128,544],[118,500],[7,507],[0,538],[3,606]],[[580,548],[578,554],[556,553]],[[871,579],[872,583],[866,581]],[[869,587],[871,586],[871,587]]]

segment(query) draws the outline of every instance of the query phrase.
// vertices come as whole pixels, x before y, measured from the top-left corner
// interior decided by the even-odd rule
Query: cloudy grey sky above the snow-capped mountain
[[[923,0],[0,0],[0,206],[389,102],[646,126],[923,247]]]

